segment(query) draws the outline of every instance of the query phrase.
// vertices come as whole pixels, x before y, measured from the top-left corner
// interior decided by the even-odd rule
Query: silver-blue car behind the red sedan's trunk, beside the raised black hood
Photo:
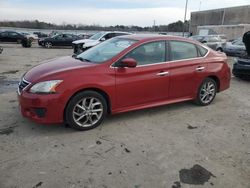
[[[228,56],[242,57],[246,53],[246,47],[242,42],[242,38],[235,39],[232,42],[227,42],[223,46],[223,52]]]

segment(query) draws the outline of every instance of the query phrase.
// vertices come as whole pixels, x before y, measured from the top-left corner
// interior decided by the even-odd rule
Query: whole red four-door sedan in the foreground
[[[127,35],[28,71],[19,84],[22,115],[79,130],[116,114],[181,101],[210,104],[230,85],[227,57],[182,37]]]

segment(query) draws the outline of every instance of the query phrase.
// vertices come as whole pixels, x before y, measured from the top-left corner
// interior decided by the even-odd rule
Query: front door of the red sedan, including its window
[[[166,42],[142,44],[122,59],[133,58],[135,68],[116,68],[118,109],[150,104],[168,98],[169,77]]]

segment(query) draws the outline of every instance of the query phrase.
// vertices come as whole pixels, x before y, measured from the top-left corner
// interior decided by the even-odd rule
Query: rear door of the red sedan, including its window
[[[205,56],[208,50],[199,48]],[[189,42],[169,41],[170,99],[192,97],[196,93],[207,68],[199,48]]]

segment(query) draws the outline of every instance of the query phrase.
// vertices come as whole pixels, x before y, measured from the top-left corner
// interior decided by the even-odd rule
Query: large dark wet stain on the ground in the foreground
[[[214,176],[211,172],[196,164],[190,169],[182,169],[179,171],[181,183],[192,185],[204,185],[211,177]]]

